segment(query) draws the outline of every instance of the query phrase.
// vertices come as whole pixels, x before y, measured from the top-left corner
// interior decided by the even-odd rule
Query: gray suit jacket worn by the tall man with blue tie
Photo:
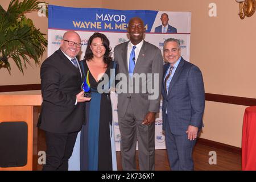
[[[156,80],[155,87],[158,88],[158,93],[151,93],[149,89],[145,93],[142,93],[143,84],[150,85],[152,79],[148,77],[142,77],[140,84],[135,85],[135,89],[140,89],[139,93],[128,93],[129,90],[129,75],[127,68],[127,46],[129,42],[121,43],[114,48],[114,60],[118,63],[118,72],[123,73],[126,76],[127,92],[118,94],[118,116],[123,117],[126,113],[127,105],[131,100],[135,117],[139,120],[143,120],[148,111],[155,113],[159,112],[161,83],[163,77],[163,57],[158,47],[144,41],[141,51],[134,68],[134,73],[158,73],[158,79]],[[152,76],[154,78],[154,75]],[[121,82],[119,82],[120,84]],[[130,87],[131,88],[131,87]],[[154,88],[154,87],[153,87]],[[156,95],[155,100],[148,100],[148,96]],[[130,98],[131,96],[131,98]]]

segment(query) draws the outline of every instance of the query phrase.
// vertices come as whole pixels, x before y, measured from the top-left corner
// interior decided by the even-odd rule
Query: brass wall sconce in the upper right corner
[[[245,18],[245,16],[250,17],[254,14],[256,9],[255,0],[236,0],[239,2],[239,16],[241,19]]]

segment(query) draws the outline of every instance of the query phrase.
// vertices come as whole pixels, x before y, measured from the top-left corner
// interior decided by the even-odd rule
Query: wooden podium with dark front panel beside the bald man
[[[27,123],[27,164],[22,167],[0,167],[0,171],[36,170],[38,158],[38,114],[41,95],[0,95],[0,123]],[[5,150],[1,148],[1,150]],[[26,155],[25,155],[26,156]]]

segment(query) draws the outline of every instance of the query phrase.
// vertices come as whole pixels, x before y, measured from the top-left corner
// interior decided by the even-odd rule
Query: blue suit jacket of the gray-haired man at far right
[[[169,64],[164,65],[163,79]],[[204,82],[201,71],[196,65],[182,57],[172,77],[168,94],[162,84],[163,95],[163,130],[169,122],[171,132],[184,135],[188,125],[202,127],[205,105]],[[167,114],[168,121],[167,121]]]

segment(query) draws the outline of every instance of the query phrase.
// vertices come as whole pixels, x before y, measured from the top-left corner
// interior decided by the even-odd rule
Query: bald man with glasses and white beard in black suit
[[[80,36],[67,31],[60,49],[42,64],[42,112],[38,126],[46,131],[46,165],[43,170],[68,170],[77,133],[85,122],[84,102],[90,98],[81,92],[81,71],[76,59],[81,49]]]

